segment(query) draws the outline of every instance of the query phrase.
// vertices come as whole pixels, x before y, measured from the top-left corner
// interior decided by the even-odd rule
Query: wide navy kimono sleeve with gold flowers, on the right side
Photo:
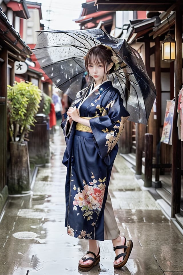
[[[90,127],[94,134],[94,143],[102,159],[106,158],[117,144],[124,128],[124,122],[129,117],[123,106],[123,100],[118,93],[109,99],[102,116],[90,119]]]

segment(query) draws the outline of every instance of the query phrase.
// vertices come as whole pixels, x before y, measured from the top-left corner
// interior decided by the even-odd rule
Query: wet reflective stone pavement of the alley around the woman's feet
[[[9,197],[0,222],[0,275],[182,275],[183,236],[121,156],[115,160],[110,194],[121,234],[133,240],[134,248],[126,266],[117,270],[112,242],[100,241],[100,264],[78,271],[88,247],[64,227],[64,149],[57,129],[51,166],[39,167],[31,195]]]

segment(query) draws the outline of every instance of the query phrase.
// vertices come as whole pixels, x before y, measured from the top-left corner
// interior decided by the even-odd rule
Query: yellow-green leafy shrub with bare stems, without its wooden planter
[[[9,132],[12,141],[23,141],[25,134],[34,125],[35,115],[41,100],[41,90],[31,82],[15,82],[8,85],[7,107]]]

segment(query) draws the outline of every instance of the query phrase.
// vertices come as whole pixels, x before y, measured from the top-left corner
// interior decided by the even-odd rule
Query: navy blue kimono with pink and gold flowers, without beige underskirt
[[[82,91],[73,106],[78,107],[81,99]],[[61,125],[65,126],[67,144],[63,156],[63,164],[67,166],[65,226],[73,237],[102,241],[104,208],[117,142],[129,113],[120,92],[111,81],[106,81],[83,101],[79,115],[90,119],[90,131],[85,127],[76,129],[78,123],[74,122],[67,134],[66,121]]]

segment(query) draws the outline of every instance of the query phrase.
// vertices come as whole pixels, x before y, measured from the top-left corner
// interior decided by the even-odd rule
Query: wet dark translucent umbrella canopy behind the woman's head
[[[118,57],[118,68],[110,79],[124,99],[129,120],[146,124],[156,91],[141,56],[126,40],[114,38],[101,29],[41,31],[33,52],[53,83],[74,99],[85,72],[83,56],[98,44],[110,46]]]

